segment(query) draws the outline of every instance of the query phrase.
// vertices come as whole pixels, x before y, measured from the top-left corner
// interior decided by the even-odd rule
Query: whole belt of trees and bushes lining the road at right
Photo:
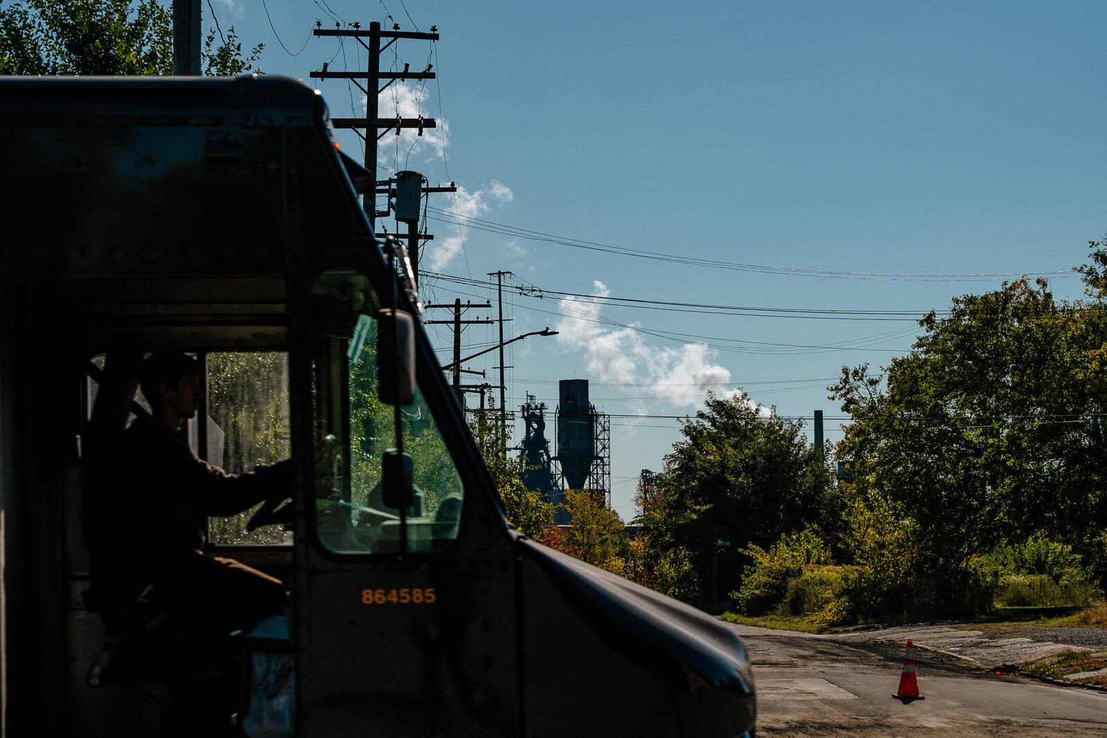
[[[650,555],[691,562],[680,596],[725,586],[744,616],[810,627],[1011,607],[1107,621],[1107,242],[1089,247],[1084,299],[1016,280],[924,316],[879,373],[842,367],[828,389],[852,423],[834,448],[711,397],[643,514]]]

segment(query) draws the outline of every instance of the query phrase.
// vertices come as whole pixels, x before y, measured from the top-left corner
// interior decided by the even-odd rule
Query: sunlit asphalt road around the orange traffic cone
[[[924,699],[901,700],[894,697],[899,648],[734,627],[754,665],[758,738],[1107,736],[1107,694],[1100,692],[995,676],[917,648]]]

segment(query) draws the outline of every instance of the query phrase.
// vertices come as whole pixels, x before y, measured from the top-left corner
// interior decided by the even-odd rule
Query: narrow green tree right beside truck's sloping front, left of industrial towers
[[[492,393],[487,395],[486,409],[474,410],[469,416],[469,428],[496,482],[507,521],[524,536],[544,540],[546,529],[554,524],[554,507],[523,484],[525,461],[521,456],[510,456],[508,437]]]

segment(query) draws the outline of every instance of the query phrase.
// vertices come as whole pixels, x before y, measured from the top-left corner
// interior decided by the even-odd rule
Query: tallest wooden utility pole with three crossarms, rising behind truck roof
[[[194,0],[198,1],[198,0]],[[399,24],[394,24],[391,31],[382,31],[381,24],[373,21],[369,24],[369,30],[363,31],[361,29],[361,23],[353,23],[353,28],[342,29],[341,23],[335,23],[334,29],[320,28],[322,23],[315,23],[315,30],[313,33],[315,35],[333,35],[333,37],[346,37],[354,38],[358,40],[365,51],[369,52],[369,69],[364,72],[331,72],[329,71],[328,64],[323,64],[322,71],[311,72],[311,79],[313,80],[350,80],[358,89],[365,93],[365,117],[363,118],[331,118],[331,124],[335,128],[351,128],[361,136],[362,141],[365,142],[365,168],[373,176],[375,184],[381,184],[376,181],[376,144],[384,134],[389,131],[395,131],[396,135],[400,135],[402,128],[417,128],[418,135],[423,135],[425,128],[434,128],[437,126],[437,122],[434,118],[425,118],[422,115],[415,118],[405,118],[401,116],[395,116],[393,118],[380,118],[377,117],[377,101],[380,94],[387,90],[397,80],[433,80],[435,79],[435,73],[431,71],[432,65],[427,64],[426,69],[422,72],[412,72],[407,64],[404,64],[402,72],[380,71],[381,66],[381,52],[391,46],[400,39],[421,39],[424,41],[437,41],[438,40],[438,27],[432,25],[431,33],[420,33],[413,31],[401,31]],[[365,43],[363,39],[368,39],[369,43]],[[381,40],[389,39],[389,41],[382,46]],[[363,86],[359,80],[365,80],[365,85]],[[387,80],[384,86],[379,86],[382,80]],[[365,133],[362,134],[361,131]],[[377,134],[377,132],[382,132]],[[391,184],[391,181],[389,183]],[[365,210],[365,216],[369,218],[369,225],[376,230],[375,221],[377,217],[384,217],[389,215],[387,210],[380,212],[376,210],[376,187],[372,188],[373,195],[370,196],[369,193],[364,195],[364,200],[362,206]],[[417,262],[416,262],[417,263]]]

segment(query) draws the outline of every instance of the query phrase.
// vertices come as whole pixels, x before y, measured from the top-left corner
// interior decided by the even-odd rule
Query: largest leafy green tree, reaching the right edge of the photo
[[[838,455],[857,490],[917,522],[933,571],[1037,530],[1097,540],[1107,523],[1101,298],[1058,303],[1044,281],[1024,279],[956,298],[948,316],[920,324],[883,388],[867,365],[842,367],[830,387],[853,418]]]

